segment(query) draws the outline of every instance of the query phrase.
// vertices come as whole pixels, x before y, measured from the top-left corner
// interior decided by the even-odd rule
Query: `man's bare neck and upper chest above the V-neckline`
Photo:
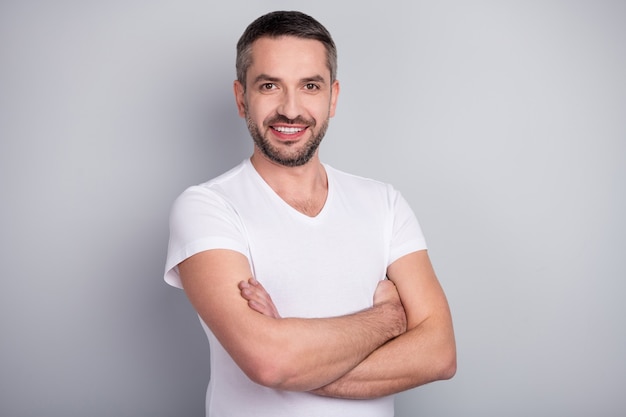
[[[298,167],[276,164],[258,153],[250,161],[263,180],[294,209],[314,217],[324,207],[328,179],[317,155]]]

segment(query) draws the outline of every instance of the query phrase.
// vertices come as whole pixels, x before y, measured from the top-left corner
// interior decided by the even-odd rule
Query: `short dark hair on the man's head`
[[[246,86],[246,74],[252,65],[252,44],[259,38],[295,36],[322,42],[326,48],[326,64],[331,82],[337,78],[337,48],[330,32],[311,16],[297,11],[276,11],[250,23],[237,42],[237,79]]]

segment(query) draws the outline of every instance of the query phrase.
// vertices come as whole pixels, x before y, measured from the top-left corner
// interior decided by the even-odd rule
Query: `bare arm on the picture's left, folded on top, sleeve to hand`
[[[327,385],[406,331],[407,317],[391,282],[379,284],[373,307],[361,312],[283,319],[260,284],[243,280],[250,268],[238,252],[200,252],[181,262],[179,271],[191,304],[224,349],[252,381],[271,388],[310,391]]]

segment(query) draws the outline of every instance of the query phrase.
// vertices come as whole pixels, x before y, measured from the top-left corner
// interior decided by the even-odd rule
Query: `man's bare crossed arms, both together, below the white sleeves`
[[[456,370],[449,308],[426,251],[389,267],[372,308],[324,319],[281,318],[270,295],[249,281],[248,261],[237,252],[201,252],[179,272],[200,317],[261,385],[374,398]]]

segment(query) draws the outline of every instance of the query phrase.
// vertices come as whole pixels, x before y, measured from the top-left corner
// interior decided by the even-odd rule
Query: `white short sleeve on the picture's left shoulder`
[[[243,224],[236,210],[219,193],[203,185],[193,186],[172,205],[165,282],[182,288],[178,264],[211,249],[230,249],[248,256]]]

